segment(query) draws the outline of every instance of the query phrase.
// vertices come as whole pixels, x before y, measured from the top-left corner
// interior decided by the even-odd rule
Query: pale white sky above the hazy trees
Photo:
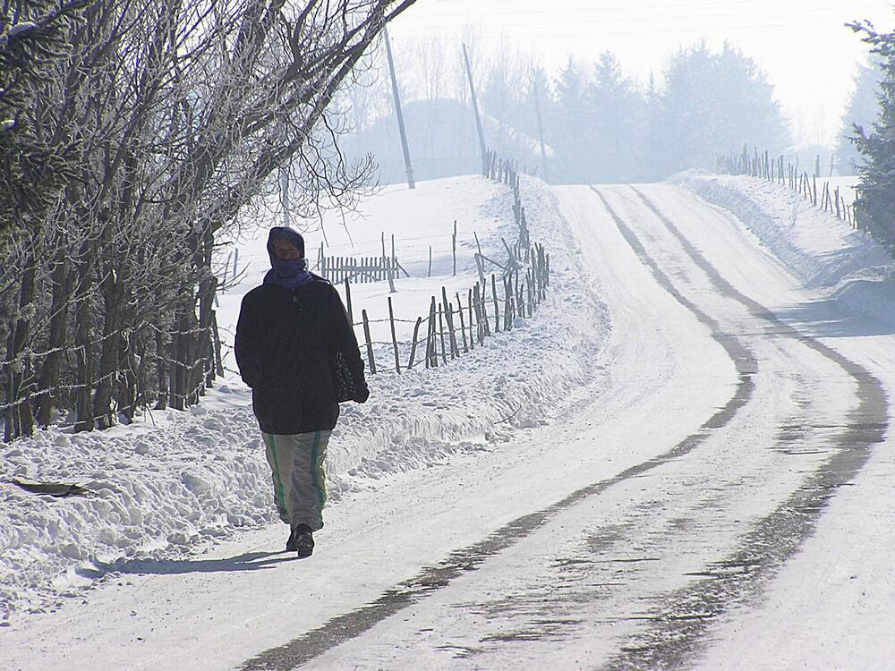
[[[775,87],[800,145],[831,144],[852,77],[867,54],[846,21],[895,30],[891,0],[417,0],[389,29],[393,42],[477,29],[484,47],[508,42],[555,73],[568,55],[592,63],[606,49],[627,75],[657,77],[681,45],[724,39],[754,58]]]

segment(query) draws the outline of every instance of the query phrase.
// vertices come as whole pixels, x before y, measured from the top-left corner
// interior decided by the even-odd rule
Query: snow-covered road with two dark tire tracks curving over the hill
[[[309,560],[141,564],[0,632],[13,667],[895,665],[891,327],[691,191],[555,191],[611,322],[580,402],[346,495]]]

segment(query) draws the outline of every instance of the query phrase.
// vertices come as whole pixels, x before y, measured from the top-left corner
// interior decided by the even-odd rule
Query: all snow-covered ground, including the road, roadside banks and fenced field
[[[891,259],[747,177],[525,180],[523,200],[551,255],[547,301],[344,406],[310,560],[278,553],[232,375],[192,412],[4,446],[0,667],[891,668],[895,456],[876,403],[895,394]],[[327,233],[359,256],[395,234],[414,275],[396,312],[415,319],[441,285],[475,282],[473,231],[502,258],[511,203],[479,177],[393,186],[349,222],[354,248],[338,223]],[[266,269],[261,238],[240,244],[247,270],[218,313],[231,334]],[[387,296],[357,285],[355,318],[384,318]],[[836,480],[825,460],[858,412],[885,442]],[[835,491],[804,512],[815,473]],[[34,497],[12,476],[91,493]],[[764,531],[780,511],[804,523]]]

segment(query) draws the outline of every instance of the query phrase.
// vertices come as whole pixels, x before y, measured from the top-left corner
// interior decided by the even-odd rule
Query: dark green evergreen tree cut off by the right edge
[[[882,81],[877,89],[879,120],[873,131],[856,127],[857,150],[863,157],[857,187],[857,225],[895,256],[895,33],[878,33],[873,25],[854,23],[871,53],[878,56]]]

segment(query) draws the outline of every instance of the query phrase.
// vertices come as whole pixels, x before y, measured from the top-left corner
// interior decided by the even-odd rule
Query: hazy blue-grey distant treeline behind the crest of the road
[[[454,60],[451,49],[442,50],[441,58],[405,56],[396,64],[411,88],[405,117],[422,179],[478,167],[469,94],[456,66],[444,65]],[[555,78],[509,54],[488,64],[473,55],[473,67],[485,140],[500,155],[539,166],[550,183],[654,181],[686,168],[712,169],[720,152],[750,139],[776,153],[791,147],[773,87],[752,58],[728,44],[720,51],[704,43],[682,47],[660,77],[646,82],[627,77],[610,52],[592,64],[570,57]],[[429,71],[421,76],[421,68]],[[379,89],[388,96],[387,87]],[[355,119],[356,153],[371,151],[384,180],[398,181],[403,162],[388,105],[353,102],[365,110]]]

